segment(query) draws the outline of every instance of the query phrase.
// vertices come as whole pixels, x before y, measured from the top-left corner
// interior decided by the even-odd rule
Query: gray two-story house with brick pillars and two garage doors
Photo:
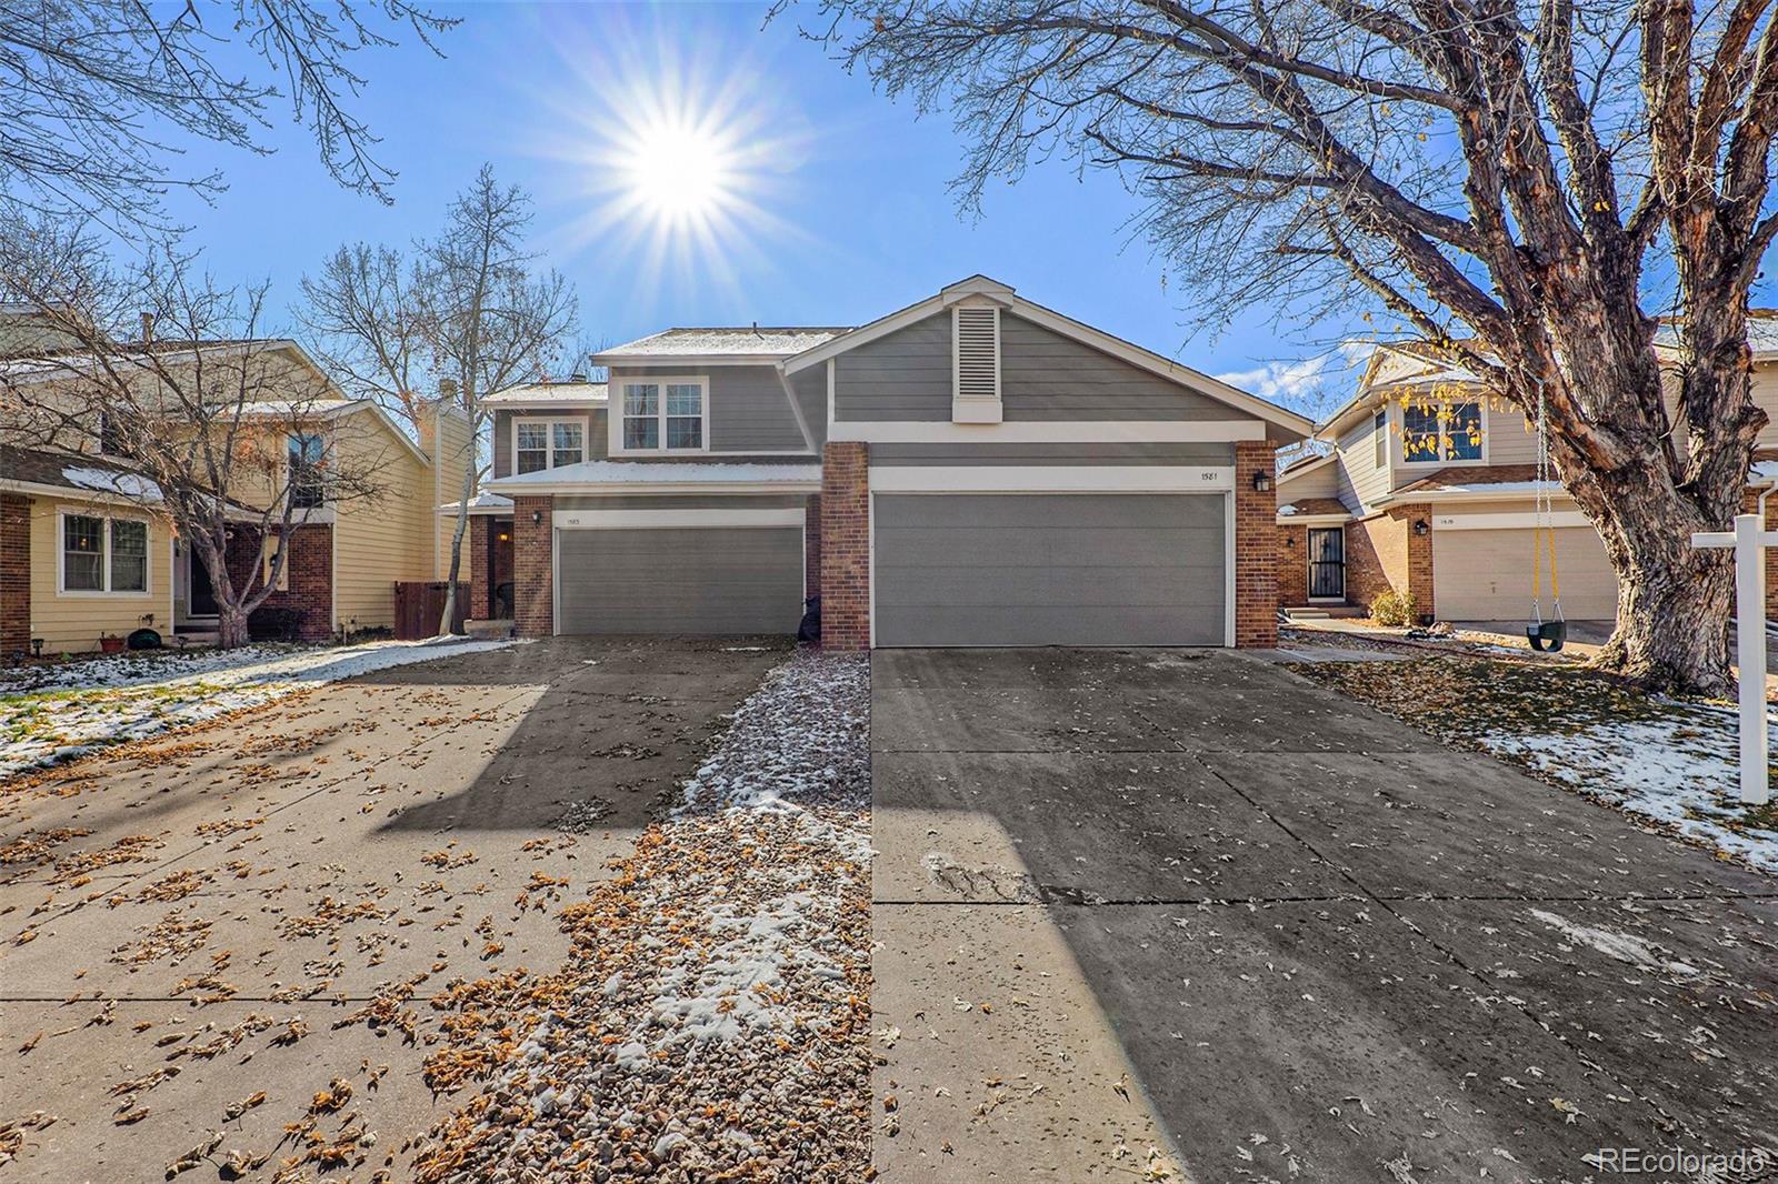
[[[1312,425],[983,276],[855,329],[667,329],[496,396],[473,583],[521,635],[1266,645]],[[477,612],[500,612],[477,601]]]

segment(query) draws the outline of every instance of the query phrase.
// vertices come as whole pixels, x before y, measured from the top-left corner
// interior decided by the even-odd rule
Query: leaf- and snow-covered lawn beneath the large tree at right
[[[1737,715],[1577,667],[1426,658],[1294,667],[1435,736],[1778,875],[1778,811],[1739,800]],[[1778,724],[1767,718],[1767,724]],[[1773,727],[1778,750],[1778,727]]]

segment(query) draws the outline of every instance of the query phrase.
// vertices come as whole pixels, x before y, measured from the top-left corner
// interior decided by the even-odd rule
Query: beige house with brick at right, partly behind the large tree
[[[1748,329],[1755,400],[1773,416],[1760,437],[1778,450],[1778,320]],[[1570,620],[1613,620],[1618,581],[1606,546],[1559,480],[1536,480],[1538,441],[1524,412],[1494,398],[1433,350],[1380,345],[1358,391],[1316,425],[1325,455],[1278,475],[1278,603],[1369,606],[1410,592],[1422,620],[1524,620],[1533,608],[1533,544],[1550,613],[1550,500],[1561,608]],[[1773,453],[1778,455],[1778,453]],[[1764,457],[1764,453],[1762,453]]]

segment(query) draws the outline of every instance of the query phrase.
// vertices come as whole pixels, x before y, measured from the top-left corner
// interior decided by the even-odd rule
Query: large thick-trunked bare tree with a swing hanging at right
[[[1723,692],[1778,235],[1767,0],[823,0],[813,36],[951,105],[974,203],[1117,169],[1209,316],[1387,309],[1552,432],[1618,572],[1598,665]],[[1673,315],[1662,389],[1657,313]]]

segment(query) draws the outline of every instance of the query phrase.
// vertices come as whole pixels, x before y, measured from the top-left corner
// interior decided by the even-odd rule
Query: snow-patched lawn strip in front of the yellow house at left
[[[514,642],[247,645],[196,654],[116,654],[0,676],[0,777],[256,708],[338,679]]]

